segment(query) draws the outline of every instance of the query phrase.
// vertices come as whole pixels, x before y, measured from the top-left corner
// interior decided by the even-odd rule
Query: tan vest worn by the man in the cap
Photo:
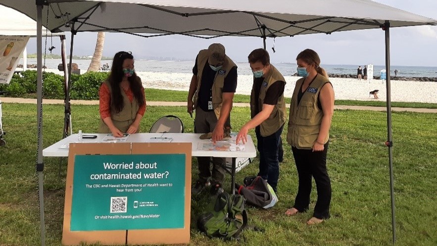
[[[194,108],[197,107],[199,97],[198,93],[200,91],[200,83],[202,82],[203,68],[205,67],[207,60],[208,50],[200,50],[199,54],[197,55],[197,88],[194,94]],[[220,110],[222,108],[222,94],[225,78],[226,76],[228,76],[229,71],[233,67],[237,67],[237,65],[231,60],[231,58],[226,55],[223,62],[223,67],[215,73],[215,79],[212,84],[212,108],[214,109],[217,119],[220,118]]]

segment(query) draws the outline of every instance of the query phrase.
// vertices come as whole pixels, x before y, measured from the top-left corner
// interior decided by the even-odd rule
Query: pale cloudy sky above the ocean
[[[437,19],[437,0],[376,0],[415,14]],[[359,9],[357,9],[359,11]],[[70,34],[67,34],[69,50]],[[75,55],[92,55],[97,33],[78,33],[74,38]],[[385,64],[384,31],[381,29],[359,30],[295,37],[267,39],[272,62],[295,62],[298,52],[310,48],[316,50],[322,64]],[[123,42],[120,42],[122,40]],[[44,40],[43,40],[44,43]],[[48,40],[50,44],[50,40]],[[203,40],[185,36],[141,38],[128,34],[106,33],[103,55],[113,56],[119,50],[131,50],[136,58],[172,57],[194,60],[199,49],[210,43],[222,43],[226,53],[235,61],[246,61],[252,49],[262,47],[261,38],[224,37]],[[276,53],[271,52],[275,45]],[[57,38],[53,39],[54,53],[60,52]],[[36,52],[36,39],[27,46],[28,53]],[[390,56],[392,65],[436,66],[437,26],[400,27],[390,29]],[[69,51],[68,51],[69,52]]]

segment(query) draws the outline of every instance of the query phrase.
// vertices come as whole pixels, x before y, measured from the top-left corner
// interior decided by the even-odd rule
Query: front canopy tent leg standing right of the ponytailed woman
[[[394,181],[393,181],[393,159],[392,147],[393,139],[391,136],[391,91],[390,91],[390,22],[386,20],[383,30],[386,33],[386,87],[387,87],[387,142],[388,147],[388,166],[390,171],[390,198],[391,198],[391,230],[393,237],[393,244],[396,243],[396,216],[394,211]]]

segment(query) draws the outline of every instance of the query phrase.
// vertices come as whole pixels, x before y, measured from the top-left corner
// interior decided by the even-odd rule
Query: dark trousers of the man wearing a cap
[[[230,126],[228,117],[226,126]],[[194,118],[194,133],[209,133],[214,131],[217,124],[217,116],[214,111],[206,112],[200,107],[195,109]],[[210,171],[211,157],[197,157],[199,168],[199,180],[205,182],[211,179],[212,182],[223,183],[225,180],[225,169],[223,165],[226,163],[226,158],[212,157],[212,171]]]

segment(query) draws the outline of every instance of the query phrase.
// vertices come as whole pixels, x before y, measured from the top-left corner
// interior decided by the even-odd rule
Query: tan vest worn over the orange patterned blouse
[[[106,84],[106,86],[109,88],[109,93],[112,97],[111,85],[108,81],[104,81],[103,83]],[[122,88],[120,88],[120,91],[121,96],[123,97],[124,107],[120,112],[117,113],[112,107],[111,103],[111,119],[114,126],[117,127],[118,130],[120,130],[121,132],[125,133],[137,117],[137,112],[140,108],[140,104],[135,97],[131,102]],[[137,132],[140,132],[140,128],[138,128]],[[109,130],[109,127],[103,122],[101,118],[98,127],[98,133],[111,133],[111,130]]]

